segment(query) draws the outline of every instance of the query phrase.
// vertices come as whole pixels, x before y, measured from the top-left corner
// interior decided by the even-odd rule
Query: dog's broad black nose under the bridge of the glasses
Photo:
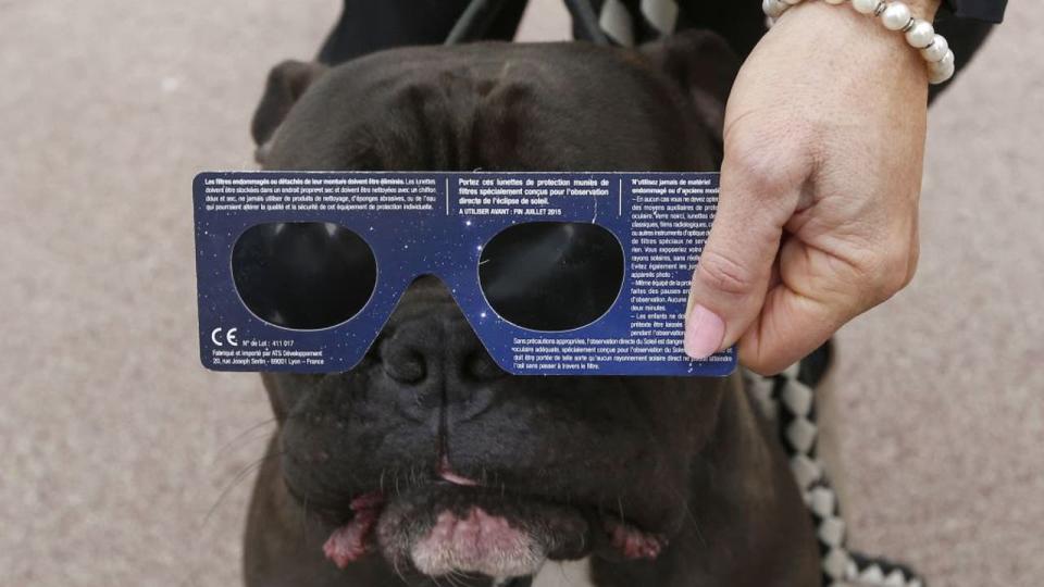
[[[459,312],[433,312],[397,324],[383,337],[384,373],[407,386],[442,387],[459,401],[475,387],[504,376]]]

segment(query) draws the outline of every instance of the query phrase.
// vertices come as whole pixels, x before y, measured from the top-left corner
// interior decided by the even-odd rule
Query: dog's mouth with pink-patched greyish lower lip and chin
[[[433,577],[508,578],[536,574],[547,560],[655,559],[667,546],[664,535],[597,508],[512,494],[459,475],[442,477],[405,491],[356,497],[350,517],[323,547],[326,558],[344,569],[380,551],[397,570]]]

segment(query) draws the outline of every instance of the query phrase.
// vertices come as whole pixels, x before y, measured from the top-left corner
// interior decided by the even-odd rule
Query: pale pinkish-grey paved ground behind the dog
[[[1044,577],[1044,4],[1012,4],[932,113],[917,279],[841,336],[856,541],[939,586]],[[271,424],[198,364],[189,182],[251,167],[268,67],[335,13],[0,0],[0,583],[238,580]]]

